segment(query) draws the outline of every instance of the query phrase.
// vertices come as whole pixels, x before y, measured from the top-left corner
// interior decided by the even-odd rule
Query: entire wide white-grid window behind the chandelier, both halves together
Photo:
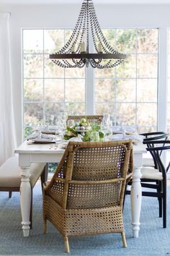
[[[23,30],[24,135],[60,111],[84,115],[86,106],[94,106],[88,114],[110,113],[115,124],[137,125],[139,132],[156,130],[158,29],[104,30],[112,46],[128,58],[114,69],[90,73],[57,67],[49,59],[70,34],[61,29]],[[94,74],[94,82],[89,74]],[[86,97],[90,90],[94,103],[93,97]]]

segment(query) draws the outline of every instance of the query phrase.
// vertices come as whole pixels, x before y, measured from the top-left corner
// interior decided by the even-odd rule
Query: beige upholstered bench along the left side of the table
[[[19,168],[18,155],[8,158],[5,163],[0,166],[0,191],[17,192],[21,184],[21,168]],[[41,177],[41,184],[47,181],[48,165],[46,163],[32,163],[30,166],[30,185],[31,189],[35,186],[37,179]],[[31,193],[32,194],[32,193]],[[30,210],[30,228],[32,228],[32,196]]]

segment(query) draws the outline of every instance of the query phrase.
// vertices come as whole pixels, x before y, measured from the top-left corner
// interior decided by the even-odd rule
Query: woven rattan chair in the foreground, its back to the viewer
[[[48,185],[44,186],[43,220],[68,236],[121,233],[122,202],[130,158],[130,140],[121,142],[69,142]]]

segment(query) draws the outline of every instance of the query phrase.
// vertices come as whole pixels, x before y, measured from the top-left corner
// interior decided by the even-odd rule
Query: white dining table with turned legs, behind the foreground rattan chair
[[[20,205],[22,212],[22,230],[24,236],[30,234],[30,206],[31,206],[31,187],[30,187],[30,164],[31,163],[58,163],[64,153],[64,149],[55,144],[27,144],[24,141],[22,145],[15,150],[19,154],[19,166],[22,170],[20,185]],[[142,191],[140,185],[140,168],[143,164],[143,153],[146,153],[146,147],[143,143],[133,146],[134,153],[134,173],[133,184],[130,192],[132,229],[133,237],[138,237],[140,230],[140,208],[142,200]]]

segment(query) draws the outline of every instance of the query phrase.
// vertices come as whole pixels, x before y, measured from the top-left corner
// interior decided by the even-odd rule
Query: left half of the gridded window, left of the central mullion
[[[55,124],[60,111],[85,114],[85,69],[63,69],[49,59],[49,54],[58,51],[70,33],[71,30],[23,30],[25,136],[51,116]]]

